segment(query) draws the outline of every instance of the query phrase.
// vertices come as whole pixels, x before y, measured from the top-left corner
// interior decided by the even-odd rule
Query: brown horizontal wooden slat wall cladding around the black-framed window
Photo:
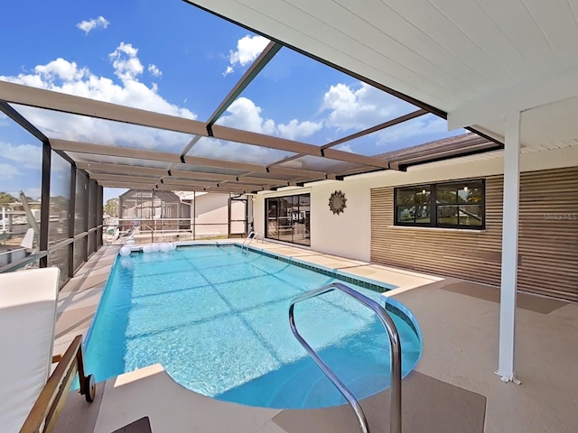
[[[486,230],[394,226],[394,189],[371,189],[371,260],[499,285],[503,177],[486,178]],[[518,290],[578,301],[578,167],[522,173]]]

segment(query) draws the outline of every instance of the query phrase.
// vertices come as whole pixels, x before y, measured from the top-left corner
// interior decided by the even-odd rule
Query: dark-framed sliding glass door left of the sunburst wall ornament
[[[311,244],[310,196],[266,198],[266,237],[292,244]]]

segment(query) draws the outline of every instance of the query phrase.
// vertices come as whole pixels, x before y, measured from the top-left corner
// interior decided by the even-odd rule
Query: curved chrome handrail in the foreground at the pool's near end
[[[339,377],[333,373],[329,365],[325,364],[322,358],[317,355],[312,346],[303,339],[303,336],[299,334],[299,331],[295,326],[294,307],[296,303],[306,299],[315,298],[333,290],[340,290],[343,293],[349,295],[351,298],[359,301],[359,303],[368,307],[368,309],[372,309],[378,315],[378,318],[381,320],[381,323],[387,330],[387,336],[389,336],[389,345],[391,348],[391,414],[389,431],[391,433],[401,433],[401,342],[399,340],[399,334],[397,333],[396,324],[392,318],[389,317],[387,311],[381,307],[378,302],[373,299],[369,299],[367,296],[362,295],[358,291],[350,289],[345,284],[341,284],[340,282],[333,282],[318,289],[307,291],[303,293],[303,295],[298,296],[291,301],[291,305],[289,306],[289,325],[291,326],[291,332],[293,332],[293,335],[295,338],[297,338],[297,341],[303,345],[303,348],[312,357],[313,361],[315,361],[315,364],[317,364],[319,368],[322,369],[322,372],[325,373],[331,382],[333,382],[341,395],[345,397],[345,400],[350,403],[351,409],[353,409],[355,415],[358,418],[359,428],[361,428],[361,431],[363,433],[369,433],[368,419],[366,418],[365,413],[359,404],[359,401],[350,392],[347,386],[345,386],[345,384],[340,381]]]

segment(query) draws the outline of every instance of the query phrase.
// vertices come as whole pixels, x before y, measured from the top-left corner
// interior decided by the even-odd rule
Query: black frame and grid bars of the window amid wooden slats
[[[481,202],[475,203],[459,203],[456,200],[455,206],[480,206],[481,212],[481,225],[465,225],[465,224],[444,224],[438,222],[438,208],[443,206],[452,206],[450,204],[440,204],[438,203],[437,199],[437,191],[440,187],[455,185],[455,184],[480,184],[481,188]],[[426,205],[424,203],[414,202],[413,206],[427,206],[430,208],[429,216],[430,221],[427,223],[418,223],[415,222],[415,214],[414,214],[414,222],[407,222],[407,221],[400,221],[399,220],[399,207],[412,207],[411,204],[398,204],[398,194],[400,192],[408,191],[408,190],[416,190],[416,189],[425,189],[429,190],[430,197]],[[456,189],[458,191],[459,189]],[[458,218],[459,223],[459,218]],[[405,227],[432,227],[432,228],[452,228],[452,229],[460,229],[460,230],[485,230],[486,229],[486,180],[485,179],[465,179],[465,180],[448,180],[444,182],[435,182],[435,183],[422,183],[422,184],[415,184],[415,185],[405,185],[403,187],[396,187],[394,188],[394,226],[405,226]]]

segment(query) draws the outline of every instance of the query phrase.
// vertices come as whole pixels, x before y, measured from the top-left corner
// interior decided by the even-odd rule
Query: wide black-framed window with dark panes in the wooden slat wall
[[[395,189],[396,226],[483,229],[484,180]]]

